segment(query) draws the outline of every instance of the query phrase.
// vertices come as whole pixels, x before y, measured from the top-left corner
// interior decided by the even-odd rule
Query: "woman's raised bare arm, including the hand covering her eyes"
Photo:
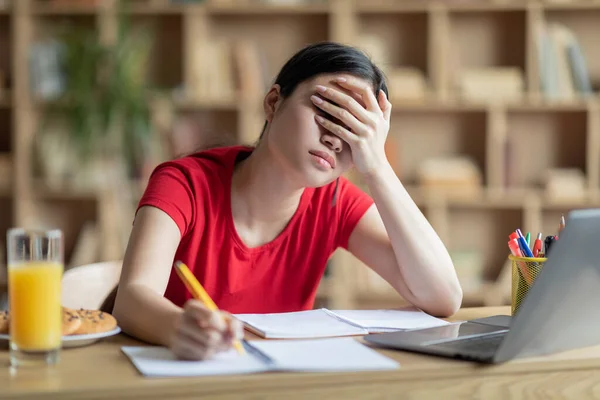
[[[454,314],[462,290],[443,242],[396,176],[385,155],[391,104],[380,91],[351,76],[336,80],[342,89],[319,86],[330,102],[315,104],[346,127],[316,116],[317,122],[346,141],[375,205],[350,235],[348,250],[407,301],[436,316]],[[362,99],[360,104],[356,96]]]

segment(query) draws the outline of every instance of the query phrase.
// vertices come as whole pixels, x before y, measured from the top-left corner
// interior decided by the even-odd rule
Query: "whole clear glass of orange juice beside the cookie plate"
[[[10,362],[51,365],[62,345],[63,235],[58,229],[7,233]]]

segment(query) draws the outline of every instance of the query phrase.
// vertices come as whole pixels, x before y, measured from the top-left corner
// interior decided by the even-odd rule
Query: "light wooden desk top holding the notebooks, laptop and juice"
[[[509,314],[509,307],[463,309],[451,320]],[[600,392],[600,346],[497,366],[382,351],[399,370],[361,373],[266,373],[201,378],[144,378],[120,346],[137,344],[117,336],[95,345],[63,350],[55,368],[8,368],[0,374],[0,399],[364,399],[523,398],[561,393],[572,398]]]

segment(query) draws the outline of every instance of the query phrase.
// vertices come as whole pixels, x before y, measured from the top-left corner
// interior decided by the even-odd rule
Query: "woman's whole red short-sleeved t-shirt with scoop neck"
[[[234,166],[252,148],[222,147],[160,164],[139,207],[167,213],[181,231],[175,260],[183,261],[217,306],[231,313],[308,310],[328,259],[347,248],[373,200],[350,181],[306,188],[285,229],[273,241],[244,245],[231,215]],[[165,297],[179,306],[191,296],[171,271]]]

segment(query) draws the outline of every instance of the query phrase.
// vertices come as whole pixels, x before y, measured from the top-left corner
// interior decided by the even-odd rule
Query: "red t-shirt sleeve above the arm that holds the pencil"
[[[174,164],[156,167],[137,210],[143,206],[164,211],[175,221],[181,236],[185,236],[194,225],[196,215],[193,185],[185,168]]]

